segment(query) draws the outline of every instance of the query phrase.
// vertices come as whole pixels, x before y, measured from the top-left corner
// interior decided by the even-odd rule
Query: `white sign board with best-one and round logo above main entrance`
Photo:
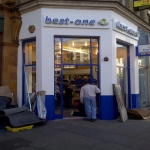
[[[44,18],[44,26],[53,27],[79,27],[79,28],[110,28],[109,21],[106,18],[87,19],[85,18],[69,18],[69,17],[50,17]]]

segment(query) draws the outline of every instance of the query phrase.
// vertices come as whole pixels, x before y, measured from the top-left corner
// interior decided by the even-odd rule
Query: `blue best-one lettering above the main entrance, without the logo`
[[[95,20],[88,20],[88,19],[76,19],[76,20],[70,20],[69,18],[49,18],[46,16],[45,18],[46,24],[59,24],[59,25],[68,25],[68,24],[75,24],[75,25],[91,25],[93,26],[95,24]]]

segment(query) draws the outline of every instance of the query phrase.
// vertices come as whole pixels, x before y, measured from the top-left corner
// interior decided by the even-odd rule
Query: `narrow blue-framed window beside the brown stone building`
[[[23,41],[23,80],[22,103],[27,101],[28,93],[32,94],[36,89],[36,40]],[[33,89],[34,87],[34,89]]]

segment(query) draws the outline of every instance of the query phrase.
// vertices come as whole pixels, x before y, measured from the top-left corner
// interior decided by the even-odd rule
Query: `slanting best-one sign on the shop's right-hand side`
[[[131,36],[134,36],[134,37],[140,36],[139,31],[134,31],[134,30],[130,29],[128,26],[121,24],[120,21],[118,21],[116,23],[116,28],[123,32],[126,32],[127,34],[130,34]]]

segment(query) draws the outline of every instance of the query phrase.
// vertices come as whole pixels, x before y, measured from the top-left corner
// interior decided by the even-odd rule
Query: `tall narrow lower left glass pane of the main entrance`
[[[61,114],[61,68],[55,65],[55,114]]]

